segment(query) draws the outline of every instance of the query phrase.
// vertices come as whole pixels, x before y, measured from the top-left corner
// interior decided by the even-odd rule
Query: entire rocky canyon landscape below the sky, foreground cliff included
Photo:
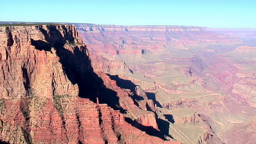
[[[1,142],[256,143],[256,29],[2,23]]]

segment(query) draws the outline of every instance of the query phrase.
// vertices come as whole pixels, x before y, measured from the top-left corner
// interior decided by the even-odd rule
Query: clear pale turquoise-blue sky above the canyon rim
[[[256,0],[0,0],[0,21],[256,28]]]

